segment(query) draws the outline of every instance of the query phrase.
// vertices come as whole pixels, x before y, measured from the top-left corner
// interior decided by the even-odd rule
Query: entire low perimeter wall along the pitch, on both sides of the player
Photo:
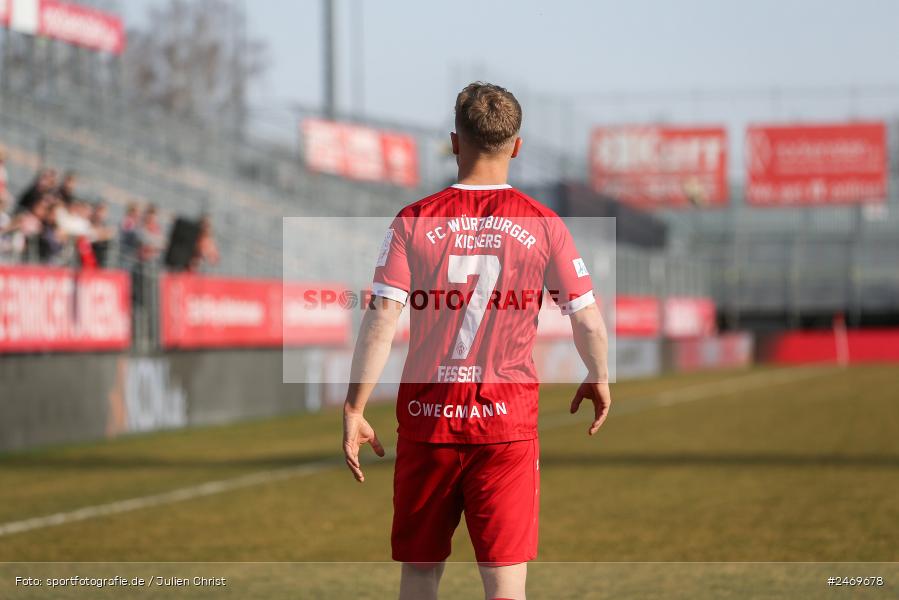
[[[617,381],[663,368],[751,363],[752,339],[728,334],[680,342],[618,339]],[[394,349],[377,388],[392,401],[406,349]],[[337,405],[346,393],[349,350],[220,350],[0,357],[0,451],[128,433],[212,425]],[[571,340],[541,342],[546,382],[576,383],[583,366]],[[284,369],[282,374],[282,368]],[[553,377],[550,378],[549,374]],[[295,384],[282,383],[293,377]]]

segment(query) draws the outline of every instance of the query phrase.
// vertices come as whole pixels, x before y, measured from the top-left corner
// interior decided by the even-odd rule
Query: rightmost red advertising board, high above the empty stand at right
[[[746,161],[750,204],[841,204],[886,198],[883,123],[750,127]]]

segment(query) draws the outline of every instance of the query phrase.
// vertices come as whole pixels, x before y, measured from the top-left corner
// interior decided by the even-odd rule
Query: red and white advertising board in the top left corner
[[[0,0],[0,23],[99,52],[121,54],[125,27],[111,13],[59,0]]]

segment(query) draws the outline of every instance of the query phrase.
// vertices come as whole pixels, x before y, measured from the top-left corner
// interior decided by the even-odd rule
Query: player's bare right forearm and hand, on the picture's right
[[[586,306],[571,315],[574,345],[587,367],[587,379],[578,387],[571,400],[571,413],[577,412],[584,398],[593,402],[593,422],[587,433],[593,435],[602,426],[612,406],[609,389],[609,337],[602,314],[596,304]]]

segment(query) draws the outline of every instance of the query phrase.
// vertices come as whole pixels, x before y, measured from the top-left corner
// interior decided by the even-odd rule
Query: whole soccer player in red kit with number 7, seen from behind
[[[521,107],[507,90],[472,83],[450,134],[458,183],[394,219],[377,259],[344,405],[343,446],[384,448],[363,410],[410,307],[399,387],[394,560],[401,600],[437,598],[464,512],[488,600],[523,599],[537,555],[538,381],[531,351],[544,288],[570,315],[587,379],[571,401],[593,403],[593,435],[611,404],[605,325],[593,283],[563,222],[506,183],[521,149]]]

